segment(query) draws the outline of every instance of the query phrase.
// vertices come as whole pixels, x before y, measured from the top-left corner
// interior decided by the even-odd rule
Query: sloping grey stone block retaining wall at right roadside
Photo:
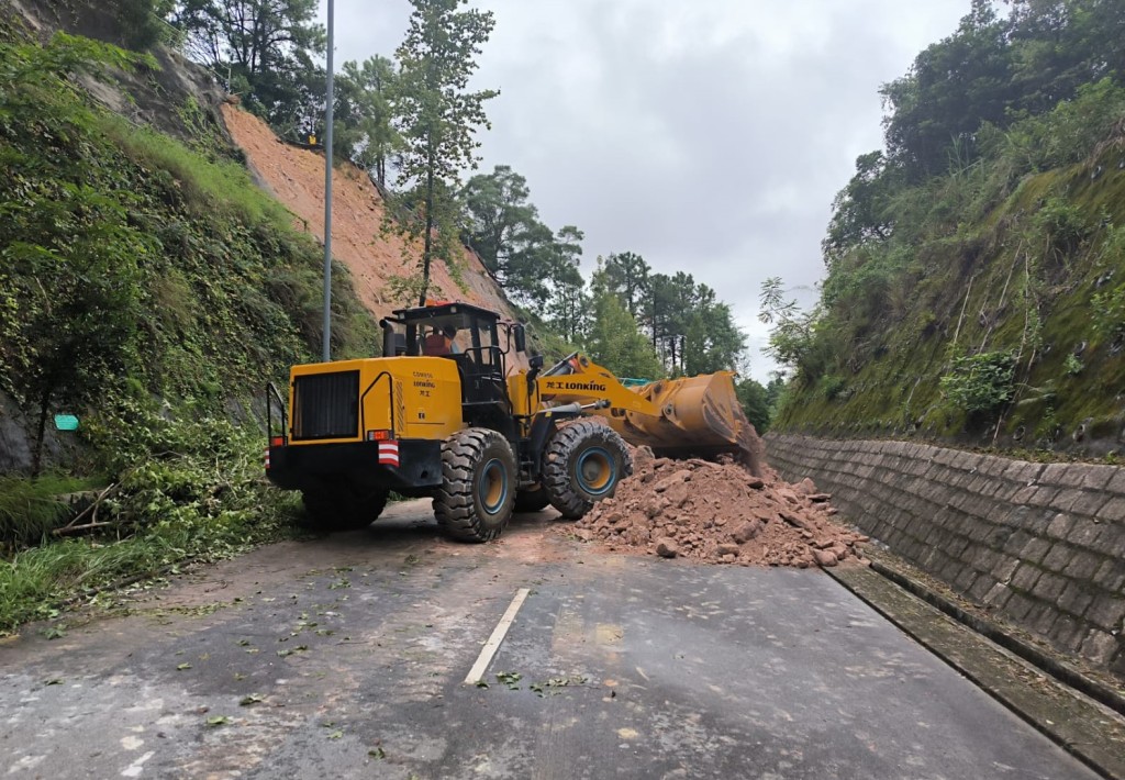
[[[766,437],[848,522],[970,600],[1125,674],[1125,469],[903,441]]]

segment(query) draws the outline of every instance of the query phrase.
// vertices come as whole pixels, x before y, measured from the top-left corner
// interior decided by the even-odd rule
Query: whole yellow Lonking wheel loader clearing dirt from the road
[[[510,370],[523,326],[465,303],[399,310],[380,325],[380,358],[294,366],[288,414],[269,387],[267,475],[300,491],[324,530],[367,526],[390,491],[432,496],[439,526],[470,541],[500,536],[513,511],[550,504],[580,518],[632,473],[622,439],[753,460],[757,437],[729,373],[633,392],[578,353]]]

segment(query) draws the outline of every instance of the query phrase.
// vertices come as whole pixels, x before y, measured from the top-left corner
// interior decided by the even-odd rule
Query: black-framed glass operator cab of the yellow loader
[[[522,326],[502,324],[500,315],[465,303],[438,303],[403,308],[388,317],[404,326],[395,333],[393,353],[448,358],[457,364],[461,379],[465,421],[485,425],[508,438],[515,434],[512,404],[507,395],[507,355],[511,338],[522,347]],[[385,352],[387,347],[385,346]]]

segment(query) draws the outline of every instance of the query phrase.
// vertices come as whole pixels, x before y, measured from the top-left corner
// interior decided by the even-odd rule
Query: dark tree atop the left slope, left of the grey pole
[[[226,80],[232,92],[279,126],[304,111],[312,57],[323,54],[318,0],[182,0],[173,24],[190,56]],[[321,102],[323,105],[323,91]]]

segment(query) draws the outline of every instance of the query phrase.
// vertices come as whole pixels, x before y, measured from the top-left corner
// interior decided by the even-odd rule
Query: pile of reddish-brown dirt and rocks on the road
[[[856,545],[867,537],[830,520],[836,510],[829,497],[811,479],[790,485],[767,467],[755,476],[730,460],[656,458],[639,447],[633,475],[616,495],[566,532],[614,550],[746,566],[862,559]]]

